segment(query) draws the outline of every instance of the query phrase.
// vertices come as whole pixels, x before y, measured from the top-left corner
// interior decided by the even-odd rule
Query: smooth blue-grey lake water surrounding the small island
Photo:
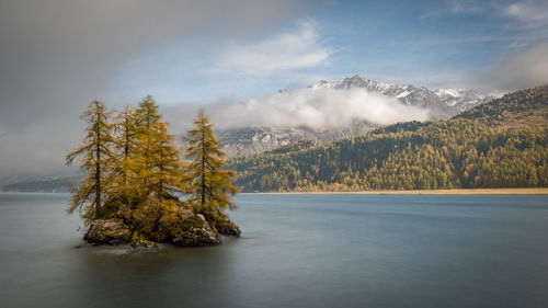
[[[78,248],[68,195],[0,195],[1,307],[548,307],[548,196],[239,195],[242,238]]]

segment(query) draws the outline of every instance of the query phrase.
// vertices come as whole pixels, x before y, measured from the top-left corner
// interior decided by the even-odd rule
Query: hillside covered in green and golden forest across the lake
[[[450,119],[235,158],[243,192],[548,186],[548,85]]]

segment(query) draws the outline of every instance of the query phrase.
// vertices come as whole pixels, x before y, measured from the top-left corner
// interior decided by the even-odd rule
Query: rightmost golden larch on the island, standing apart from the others
[[[238,192],[231,184],[233,171],[224,170],[225,153],[219,149],[219,142],[214,135],[213,124],[204,111],[198,112],[194,119],[194,128],[187,130],[187,147],[185,157],[186,183],[190,197],[187,202],[196,213],[203,214],[206,220],[216,225],[226,219],[226,207],[236,208],[230,196]]]

